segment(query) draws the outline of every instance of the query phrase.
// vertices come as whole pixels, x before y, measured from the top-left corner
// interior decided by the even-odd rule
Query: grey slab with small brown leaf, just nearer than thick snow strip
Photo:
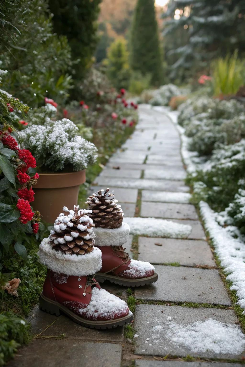
[[[155,243],[161,243],[162,246]],[[187,266],[216,266],[206,241],[139,237],[138,245],[138,260],[148,261],[151,264],[178,262]]]

